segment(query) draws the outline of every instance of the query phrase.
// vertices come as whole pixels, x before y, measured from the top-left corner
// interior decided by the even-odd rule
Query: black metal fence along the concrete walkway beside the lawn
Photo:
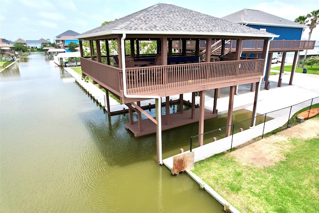
[[[252,118],[243,120],[230,125],[230,136],[227,137],[227,142],[225,141],[225,146],[227,150],[232,151],[233,147],[236,147],[245,142],[251,141],[253,139],[262,139],[269,135],[275,134],[282,130],[288,129],[291,126],[297,125],[297,115],[308,109],[319,107],[319,96],[316,98],[309,99],[307,101],[292,105],[290,107],[282,108],[272,112],[268,112],[262,115],[257,115],[256,124],[252,128],[251,121]],[[307,120],[307,118],[305,119]],[[203,140],[203,144],[214,143],[220,139],[226,138],[227,126],[220,127],[211,131],[207,131],[200,135],[195,135],[190,137],[190,152],[192,149],[198,147],[198,142],[200,139]],[[249,133],[246,131],[249,130]],[[246,131],[246,132],[245,132]],[[237,134],[239,133],[239,134]],[[230,138],[231,137],[231,138]],[[231,141],[230,141],[231,140]],[[227,144],[226,144],[227,143]],[[212,153],[216,150],[212,150]],[[214,153],[217,154],[217,153]]]

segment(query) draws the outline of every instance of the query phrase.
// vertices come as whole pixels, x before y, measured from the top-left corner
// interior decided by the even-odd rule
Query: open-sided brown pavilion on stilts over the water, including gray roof
[[[82,75],[105,88],[129,107],[126,127],[135,136],[157,135],[157,161],[162,164],[161,131],[217,116],[217,96],[222,87],[230,87],[227,126],[231,125],[236,86],[255,83],[254,111],[259,85],[265,73],[269,43],[278,35],[232,23],[171,4],[158,3],[131,15],[94,28],[80,35]],[[118,54],[109,51],[109,41],[117,42]],[[156,54],[141,54],[141,41],[154,41]],[[83,42],[89,41],[90,56],[83,56]],[[101,45],[103,43],[103,45]],[[113,42],[114,43],[114,42]],[[105,51],[101,47],[105,44]],[[126,52],[126,46],[130,52]],[[179,47],[179,48],[177,48]],[[179,49],[178,51],[173,50]],[[241,57],[245,51],[260,51],[260,58]],[[102,55],[101,52],[105,52]],[[205,91],[215,89],[213,110],[205,109]],[[192,93],[191,110],[169,114],[169,96]],[[200,96],[198,108],[195,94]],[[156,117],[145,112],[140,102],[155,99]],[[161,100],[166,114],[161,114]],[[108,111],[110,110],[108,104]],[[133,111],[138,121],[133,121]],[[142,114],[148,119],[142,120]],[[230,135],[230,128],[226,136]],[[203,138],[199,137],[199,145]]]

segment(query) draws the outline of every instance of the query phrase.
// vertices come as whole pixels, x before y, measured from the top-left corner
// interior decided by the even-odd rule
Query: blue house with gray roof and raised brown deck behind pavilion
[[[274,40],[270,42],[270,47],[273,47],[274,50],[269,51],[268,58],[271,59],[275,56],[278,57],[281,62],[290,62],[293,64],[289,84],[292,84],[293,82],[296,62],[299,60],[299,51],[304,49],[313,49],[315,45],[315,41],[309,42],[301,40],[303,30],[307,27],[306,25],[260,10],[245,8],[226,15],[222,17],[222,19],[279,35],[279,37],[275,37]],[[284,45],[284,42],[286,43],[286,46]],[[253,56],[256,56],[256,54]],[[283,72],[284,70],[282,68],[278,79],[278,86],[281,86],[281,76]],[[265,89],[269,89],[270,87],[268,81],[269,73],[270,70],[267,71],[265,76]]]

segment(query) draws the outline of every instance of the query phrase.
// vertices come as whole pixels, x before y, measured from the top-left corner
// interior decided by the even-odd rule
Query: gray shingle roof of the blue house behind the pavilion
[[[306,27],[304,24],[300,24],[276,15],[269,14],[260,10],[254,9],[242,9],[232,14],[222,17],[222,19],[234,22],[234,23],[248,23],[248,24],[260,24],[271,26],[286,26],[286,27]]]

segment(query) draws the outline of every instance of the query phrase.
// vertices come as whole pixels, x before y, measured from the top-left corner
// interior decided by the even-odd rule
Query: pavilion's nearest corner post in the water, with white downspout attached
[[[161,101],[159,99],[155,99],[155,111],[156,111],[156,120],[157,120],[157,128],[156,128],[156,150],[157,150],[157,160],[159,164],[162,164],[161,157]]]

